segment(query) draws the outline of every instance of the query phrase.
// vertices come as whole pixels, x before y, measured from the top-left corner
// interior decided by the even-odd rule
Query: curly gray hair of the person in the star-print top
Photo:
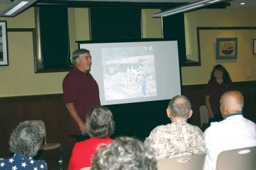
[[[18,125],[10,137],[10,151],[17,155],[34,157],[45,137],[45,130],[38,123],[24,121]]]

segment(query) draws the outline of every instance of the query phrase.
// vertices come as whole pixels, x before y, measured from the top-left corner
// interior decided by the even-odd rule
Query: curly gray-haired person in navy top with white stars
[[[34,160],[37,151],[43,143],[45,131],[38,125],[24,121],[20,123],[12,132],[10,137],[10,151],[14,153],[13,157],[0,159],[0,169],[47,169],[44,160]]]

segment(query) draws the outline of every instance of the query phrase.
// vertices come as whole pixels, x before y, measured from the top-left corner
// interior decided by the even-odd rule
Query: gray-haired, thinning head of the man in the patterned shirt
[[[183,95],[177,95],[170,100],[168,108],[173,118],[188,119],[189,111],[191,110],[191,104],[187,97]]]

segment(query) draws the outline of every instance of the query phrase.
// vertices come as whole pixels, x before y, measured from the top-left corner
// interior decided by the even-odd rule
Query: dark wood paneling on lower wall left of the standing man
[[[0,98],[0,157],[12,156],[8,141],[13,128],[21,121],[43,120],[47,142],[61,143],[64,163],[67,164],[75,141],[67,135],[68,112],[62,96],[58,94]]]

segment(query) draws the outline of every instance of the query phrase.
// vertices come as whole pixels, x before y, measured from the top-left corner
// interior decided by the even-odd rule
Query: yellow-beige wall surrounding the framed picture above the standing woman
[[[256,26],[255,8],[198,10],[187,13],[188,24],[195,26],[189,28],[190,37],[196,37],[198,27],[248,27]],[[190,16],[191,15],[191,16]],[[193,20],[189,20],[193,19]],[[192,30],[192,31],[191,31]],[[225,66],[233,81],[256,80],[256,55],[252,53],[252,39],[255,38],[255,30],[212,30],[200,31],[201,66],[182,67],[182,84],[205,84],[209,81],[212,67],[216,64]],[[216,37],[237,37],[237,59],[215,59]],[[190,39],[196,43],[196,39]],[[191,45],[192,51],[196,51],[197,45]],[[246,74],[247,72],[247,74]],[[248,76],[248,73],[250,76]]]

